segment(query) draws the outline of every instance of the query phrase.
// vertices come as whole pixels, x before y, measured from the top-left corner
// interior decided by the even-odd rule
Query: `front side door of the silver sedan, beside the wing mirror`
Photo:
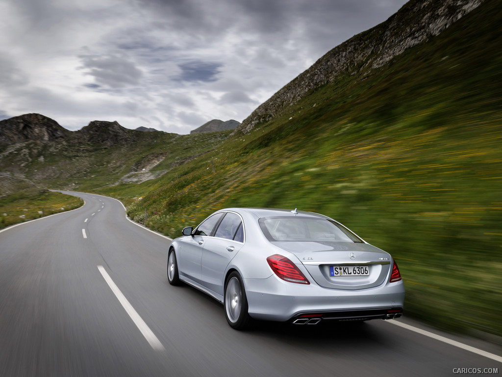
[[[222,216],[223,213],[217,213],[204,220],[191,236],[185,237],[182,252],[177,255],[180,273],[199,284],[204,244],[211,239],[211,234]]]

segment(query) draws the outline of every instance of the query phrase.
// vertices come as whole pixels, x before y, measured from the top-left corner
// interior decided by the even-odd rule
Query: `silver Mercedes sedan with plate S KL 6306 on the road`
[[[401,317],[396,261],[335,220],[290,210],[230,208],[171,243],[171,285],[224,305],[228,324],[252,319],[317,324]]]

